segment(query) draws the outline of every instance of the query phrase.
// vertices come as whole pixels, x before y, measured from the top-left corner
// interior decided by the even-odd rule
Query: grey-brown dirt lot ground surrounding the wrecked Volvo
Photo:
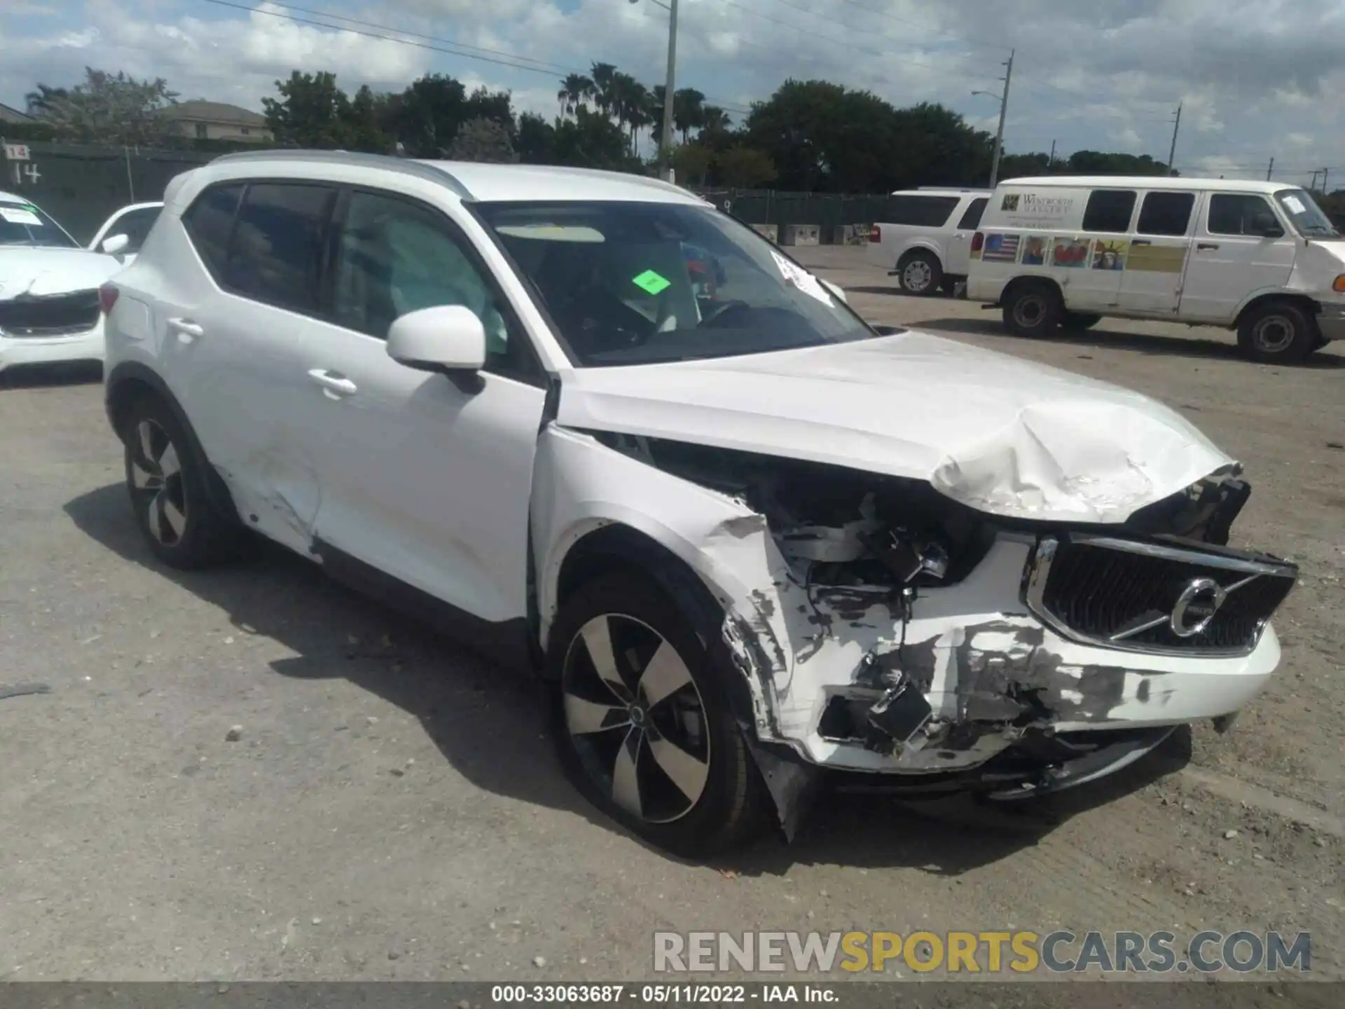
[[[1345,348],[1033,343],[854,250],[800,258],[874,322],[1135,387],[1244,461],[1235,542],[1303,576],[1232,733],[1011,815],[835,796],[794,845],[682,864],[577,798],[529,683],[278,550],[156,566],[101,387],[0,379],[0,685],[50,687],[0,700],[0,978],[648,979],[655,930],[1057,927],[1310,930],[1342,977]]]

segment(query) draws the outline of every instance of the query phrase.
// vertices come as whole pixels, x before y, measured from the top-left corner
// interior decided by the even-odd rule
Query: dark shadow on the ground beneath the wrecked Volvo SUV
[[[625,833],[562,776],[547,735],[546,696],[529,677],[338,585],[317,565],[269,542],[208,572],[164,568],[140,538],[121,484],[81,495],[65,511],[122,558],[219,607],[241,632],[293,651],[293,658],[270,663],[277,674],[348,679],[414,716],[444,759],[477,787]],[[1067,818],[1141,788],[1189,757],[1189,735],[1174,733],[1150,757],[1104,782],[1015,803],[898,805],[892,798],[827,794],[794,844],[767,838],[724,865],[745,874],[785,873],[803,862],[956,876],[1034,845]]]

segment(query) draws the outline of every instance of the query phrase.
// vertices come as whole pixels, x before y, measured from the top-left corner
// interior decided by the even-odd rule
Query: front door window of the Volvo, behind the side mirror
[[[395,196],[352,192],[332,260],[332,322],[387,339],[393,322],[433,305],[469,308],[486,328],[486,370],[538,374],[522,332],[437,211]]]

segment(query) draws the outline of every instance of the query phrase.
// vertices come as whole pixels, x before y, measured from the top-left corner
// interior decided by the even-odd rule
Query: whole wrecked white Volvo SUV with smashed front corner
[[[1279,662],[1297,569],[1227,545],[1250,490],[1186,420],[873,328],[672,184],[249,152],[164,203],[102,292],[149,549],[256,530],[428,604],[670,850],[792,834],[830,776],[1093,780]]]

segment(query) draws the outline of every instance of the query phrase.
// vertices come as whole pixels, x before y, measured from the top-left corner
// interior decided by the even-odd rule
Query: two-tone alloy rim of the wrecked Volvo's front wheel
[[[603,613],[565,657],[565,726],[593,784],[650,823],[685,817],[705,792],[705,702],[682,657],[652,627]]]

